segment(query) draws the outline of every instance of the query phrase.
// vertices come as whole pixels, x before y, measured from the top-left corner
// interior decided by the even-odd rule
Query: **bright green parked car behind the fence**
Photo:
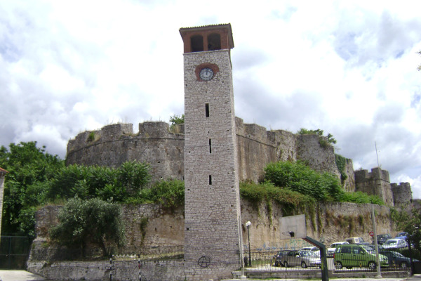
[[[380,267],[388,267],[386,256],[379,255]],[[376,256],[372,247],[362,244],[344,244],[336,247],[333,262],[336,269],[367,267],[371,270],[376,268]]]

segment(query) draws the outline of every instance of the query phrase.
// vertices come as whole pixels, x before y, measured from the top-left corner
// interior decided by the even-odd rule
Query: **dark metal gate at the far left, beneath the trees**
[[[0,237],[0,268],[25,269],[31,238],[27,236]]]

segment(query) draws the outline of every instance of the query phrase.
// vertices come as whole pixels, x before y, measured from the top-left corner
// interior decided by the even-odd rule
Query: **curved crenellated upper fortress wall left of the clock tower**
[[[93,138],[90,136],[94,136]],[[66,164],[120,166],[138,160],[150,164],[152,181],[184,176],[184,135],[171,133],[166,122],[104,126],[98,131],[79,133],[67,145]]]

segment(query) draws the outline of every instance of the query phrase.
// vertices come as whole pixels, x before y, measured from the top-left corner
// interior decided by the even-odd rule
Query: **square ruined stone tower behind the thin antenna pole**
[[[377,195],[385,204],[394,206],[392,188],[389,181],[389,172],[380,168],[355,171],[356,191],[366,192],[368,195]]]

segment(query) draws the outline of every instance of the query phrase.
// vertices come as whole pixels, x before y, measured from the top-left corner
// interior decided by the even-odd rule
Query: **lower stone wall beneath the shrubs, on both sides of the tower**
[[[184,209],[172,212],[165,211],[156,204],[122,205],[123,221],[126,226],[128,247],[169,246],[184,244]],[[377,233],[390,233],[394,236],[394,225],[390,218],[390,209],[386,206],[374,205]],[[60,207],[48,206],[36,212],[36,240],[33,249],[45,247],[42,242],[48,237],[48,229],[58,223]],[[285,243],[293,243],[279,233],[279,218],[286,216],[283,207],[272,202],[272,210],[267,209],[266,202],[258,208],[248,200],[241,200],[241,224],[243,244],[248,247],[246,222],[251,221],[250,244],[253,249],[267,247],[287,247]],[[372,230],[371,204],[326,203],[316,209],[314,218],[306,215],[307,236],[316,240],[324,240],[325,244],[342,241],[346,237],[361,236],[371,242],[368,232]],[[302,214],[296,211],[295,214]],[[288,214],[289,216],[290,214]],[[146,218],[146,222],[144,221]],[[143,223],[142,223],[143,221]],[[36,243],[38,242],[38,243]]]

